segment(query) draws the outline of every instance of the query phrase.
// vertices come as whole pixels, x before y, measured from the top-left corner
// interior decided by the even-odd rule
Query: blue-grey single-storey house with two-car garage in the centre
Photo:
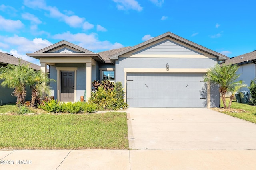
[[[27,55],[40,59],[41,70],[50,66],[59,101],[79,101],[84,90],[88,99],[91,82],[103,79],[122,82],[129,107],[218,107],[218,87],[207,86],[203,76],[227,59],[170,32],[101,53],[60,41]]]

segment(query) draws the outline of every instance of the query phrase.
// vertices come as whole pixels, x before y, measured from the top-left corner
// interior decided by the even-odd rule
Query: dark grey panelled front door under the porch
[[[60,101],[74,102],[75,100],[75,72],[61,71]]]

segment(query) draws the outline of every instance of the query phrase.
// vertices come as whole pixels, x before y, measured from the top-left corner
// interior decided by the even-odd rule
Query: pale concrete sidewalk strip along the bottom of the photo
[[[0,170],[254,170],[255,155],[256,150],[0,150]]]

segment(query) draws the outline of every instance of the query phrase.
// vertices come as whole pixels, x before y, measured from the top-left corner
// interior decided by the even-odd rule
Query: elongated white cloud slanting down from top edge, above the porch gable
[[[85,18],[79,17],[77,15],[68,16],[68,14],[72,14],[70,11],[66,11],[66,14],[63,14],[56,8],[55,6],[47,6],[44,0],[24,0],[24,5],[34,8],[34,9],[43,9],[49,12],[49,16],[51,18],[57,18],[60,21],[64,21],[70,27],[82,27]]]

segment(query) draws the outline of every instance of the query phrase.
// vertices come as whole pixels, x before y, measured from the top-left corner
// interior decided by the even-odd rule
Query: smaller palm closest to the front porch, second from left
[[[48,85],[50,81],[55,81],[48,77],[48,74],[45,74],[41,70],[35,71],[33,74],[32,82],[30,82],[31,88],[31,106],[37,107],[40,98],[44,94],[50,93],[50,86]]]

